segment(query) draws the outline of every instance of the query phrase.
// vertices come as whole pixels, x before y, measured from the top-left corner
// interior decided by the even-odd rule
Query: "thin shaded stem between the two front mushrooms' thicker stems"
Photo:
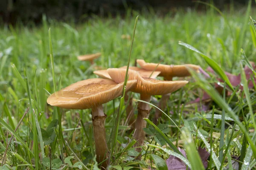
[[[130,97],[130,98],[129,98]],[[126,92],[125,93],[125,104],[127,105],[126,107],[126,119],[127,119],[127,122],[128,122],[128,125],[131,125],[132,122],[134,122],[134,108],[133,108],[133,105],[132,105],[132,99],[133,97],[130,96],[130,92]],[[134,125],[131,126],[131,130],[134,129]]]

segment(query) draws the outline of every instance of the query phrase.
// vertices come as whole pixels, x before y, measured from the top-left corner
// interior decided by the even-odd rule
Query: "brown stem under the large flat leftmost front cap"
[[[96,147],[96,160],[98,163],[109,158],[108,145],[106,140],[105,119],[102,105],[92,108],[93,132]],[[109,164],[109,159],[101,164],[105,169]]]

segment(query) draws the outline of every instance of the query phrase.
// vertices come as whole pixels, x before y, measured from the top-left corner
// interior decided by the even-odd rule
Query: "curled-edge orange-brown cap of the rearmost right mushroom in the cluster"
[[[156,63],[145,62],[144,59],[137,59],[137,63],[140,65],[140,67],[144,68],[145,70],[156,69],[156,71],[161,71],[160,76],[163,76],[163,77],[186,77],[191,75],[187,67],[197,72],[199,72],[199,68],[200,68],[198,65],[193,65],[193,64],[185,64],[185,65],[159,64],[158,65]]]

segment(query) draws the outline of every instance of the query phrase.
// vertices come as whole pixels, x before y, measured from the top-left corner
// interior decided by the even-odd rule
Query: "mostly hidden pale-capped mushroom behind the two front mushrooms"
[[[127,68],[127,66],[123,66],[120,68]],[[152,79],[156,78],[159,74],[160,71],[147,71],[143,68],[138,68],[138,67],[133,67],[130,66],[129,70],[134,70],[134,71],[138,71],[138,73],[140,74],[141,77],[151,77]],[[110,75],[108,74],[107,70],[98,70],[98,71],[93,71],[94,74],[98,75],[99,77],[105,78],[105,79],[111,79]],[[133,105],[132,105],[132,96],[129,99],[129,91],[127,91],[125,93],[125,103],[128,103],[127,107],[126,107],[126,119],[128,121],[128,125],[131,125],[135,119],[132,119],[132,115],[133,115]],[[134,129],[134,127],[131,127],[131,129]]]

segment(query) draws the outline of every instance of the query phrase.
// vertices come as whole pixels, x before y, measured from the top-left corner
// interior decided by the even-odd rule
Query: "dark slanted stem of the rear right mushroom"
[[[172,77],[164,77],[164,80],[172,81]],[[166,103],[169,100],[170,96],[171,96],[170,93],[163,95],[157,107],[160,108],[162,111],[164,111],[166,108]],[[162,116],[162,111],[160,111],[159,109],[156,109],[154,114],[154,119],[153,119],[153,123],[155,125],[157,125],[158,119]]]

